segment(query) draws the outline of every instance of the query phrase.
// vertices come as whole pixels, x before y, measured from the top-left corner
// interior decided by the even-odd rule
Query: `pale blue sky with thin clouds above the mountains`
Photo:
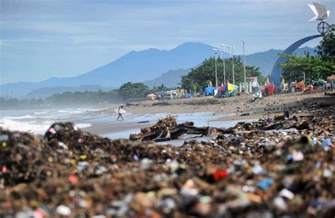
[[[327,6],[334,22],[335,1]],[[0,0],[0,84],[84,74],[132,50],[184,42],[285,49],[317,34],[304,0]],[[315,47],[318,40],[304,46]]]

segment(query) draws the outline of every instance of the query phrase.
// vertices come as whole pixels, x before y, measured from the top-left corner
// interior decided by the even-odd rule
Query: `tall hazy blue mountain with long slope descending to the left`
[[[37,88],[95,85],[119,87],[127,81],[155,79],[170,69],[194,67],[213,55],[213,47],[200,42],[185,42],[172,50],[148,49],[129,52],[105,66],[86,74],[67,78],[51,78],[40,82],[18,82],[0,86],[1,96],[13,93],[23,97]]]

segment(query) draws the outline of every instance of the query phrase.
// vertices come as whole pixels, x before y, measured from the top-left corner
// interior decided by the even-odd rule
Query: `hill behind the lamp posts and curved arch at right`
[[[295,51],[295,54],[302,56],[304,50],[310,53],[310,56],[317,55],[317,48],[312,47],[300,47]],[[278,59],[278,54],[281,54],[283,50],[268,50],[266,52],[257,52],[254,54],[245,55],[245,62],[247,65],[259,67],[263,76],[271,74],[272,68]]]

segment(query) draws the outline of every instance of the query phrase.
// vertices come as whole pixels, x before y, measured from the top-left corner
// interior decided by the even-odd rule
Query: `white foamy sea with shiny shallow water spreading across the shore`
[[[117,107],[117,106],[115,106]],[[81,130],[111,139],[129,138],[129,134],[138,133],[141,127],[154,125],[166,117],[167,113],[124,114],[124,120],[118,121],[117,114],[103,113],[107,108],[49,108],[35,110],[0,110],[0,127],[5,130],[22,131],[43,136],[54,122],[74,122]],[[216,121],[229,114],[180,113],[170,114],[177,123],[194,122],[196,127],[232,127],[237,122],[253,120]]]

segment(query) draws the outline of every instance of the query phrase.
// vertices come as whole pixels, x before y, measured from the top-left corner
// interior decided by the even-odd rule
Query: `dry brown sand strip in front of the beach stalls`
[[[323,91],[312,93],[279,93],[267,96],[261,100],[250,103],[253,98],[251,94],[243,94],[232,98],[213,98],[212,96],[187,99],[173,99],[168,101],[142,101],[128,103],[125,110],[129,113],[233,113],[240,115],[250,113],[253,115],[266,115],[269,111],[279,112],[280,108],[288,108],[310,98],[324,96]],[[264,110],[265,109],[265,110]],[[114,113],[107,110],[107,113]]]

